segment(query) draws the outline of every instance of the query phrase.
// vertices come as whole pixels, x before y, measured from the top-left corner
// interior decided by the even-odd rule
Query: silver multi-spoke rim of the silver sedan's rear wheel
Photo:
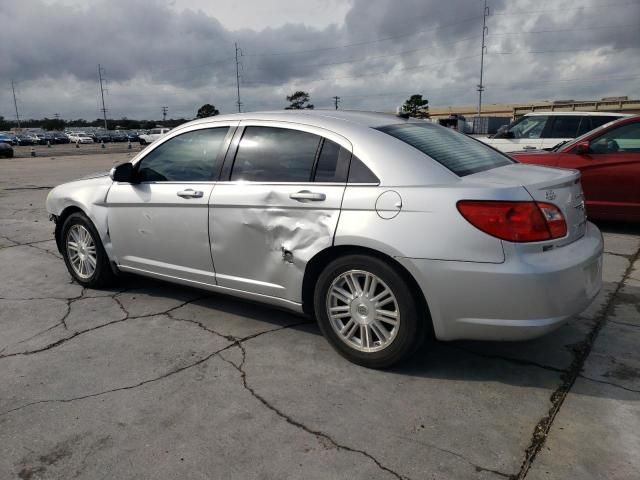
[[[340,340],[361,352],[388,347],[400,325],[395,295],[379,277],[364,270],[349,270],[331,283],[327,315]]]

